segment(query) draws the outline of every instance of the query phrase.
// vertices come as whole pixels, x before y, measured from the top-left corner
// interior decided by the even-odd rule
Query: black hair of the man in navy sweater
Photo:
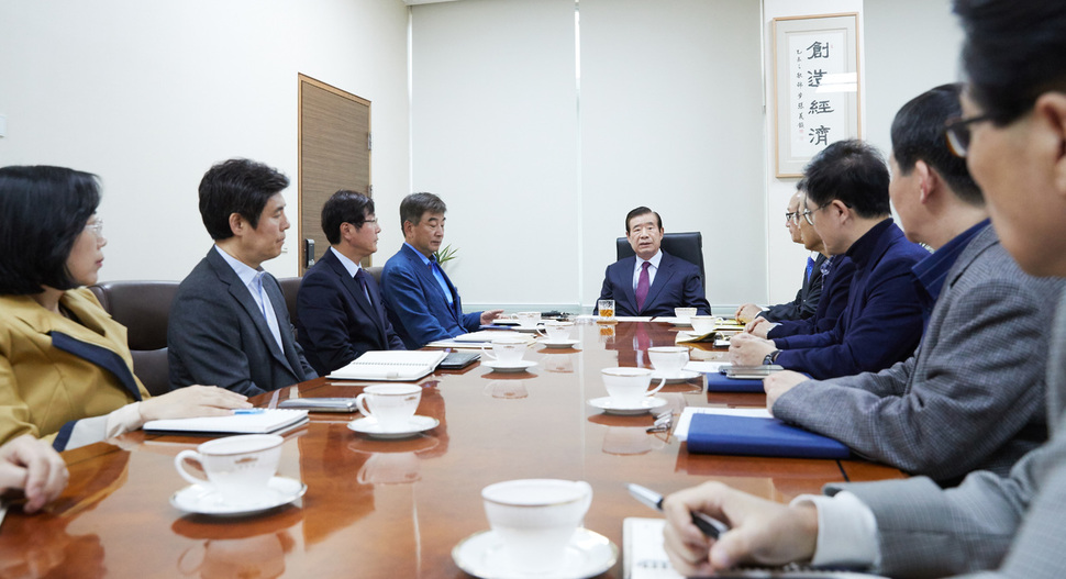
[[[803,175],[807,197],[817,207],[839,199],[863,219],[891,213],[888,167],[881,154],[862,141],[831,144],[811,159]]]

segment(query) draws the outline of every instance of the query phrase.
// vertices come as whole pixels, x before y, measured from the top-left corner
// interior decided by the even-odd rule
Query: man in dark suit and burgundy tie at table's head
[[[700,268],[659,249],[663,220],[646,207],[625,215],[625,236],[633,257],[607,266],[601,300],[614,300],[615,315],[674,315],[674,308],[710,314]]]

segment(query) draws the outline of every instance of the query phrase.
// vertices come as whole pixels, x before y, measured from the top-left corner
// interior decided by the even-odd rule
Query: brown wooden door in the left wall
[[[314,241],[314,259],[330,242],[322,233],[322,205],[338,189],[369,196],[370,101],[299,75],[300,126],[298,192],[300,275],[309,259],[304,240]],[[370,259],[364,260],[370,265]]]

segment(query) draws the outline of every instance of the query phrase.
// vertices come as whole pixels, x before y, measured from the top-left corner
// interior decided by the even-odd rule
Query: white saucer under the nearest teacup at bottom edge
[[[526,579],[553,577],[581,579],[596,577],[618,561],[618,546],[599,533],[578,528],[566,546],[563,568],[552,574],[526,574],[513,569],[502,558],[503,539],[495,531],[481,531],[459,542],[452,549],[452,559],[459,569],[474,577],[493,579]]]

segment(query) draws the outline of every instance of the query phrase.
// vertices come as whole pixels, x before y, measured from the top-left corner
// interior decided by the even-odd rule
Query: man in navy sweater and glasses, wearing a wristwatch
[[[855,265],[847,307],[829,331],[763,339],[734,336],[736,365],[779,364],[815,379],[877,371],[907,359],[922,337],[925,303],[911,268],[929,256],[892,222],[889,175],[877,151],[841,141],[807,166],[802,219],[830,255]]]

